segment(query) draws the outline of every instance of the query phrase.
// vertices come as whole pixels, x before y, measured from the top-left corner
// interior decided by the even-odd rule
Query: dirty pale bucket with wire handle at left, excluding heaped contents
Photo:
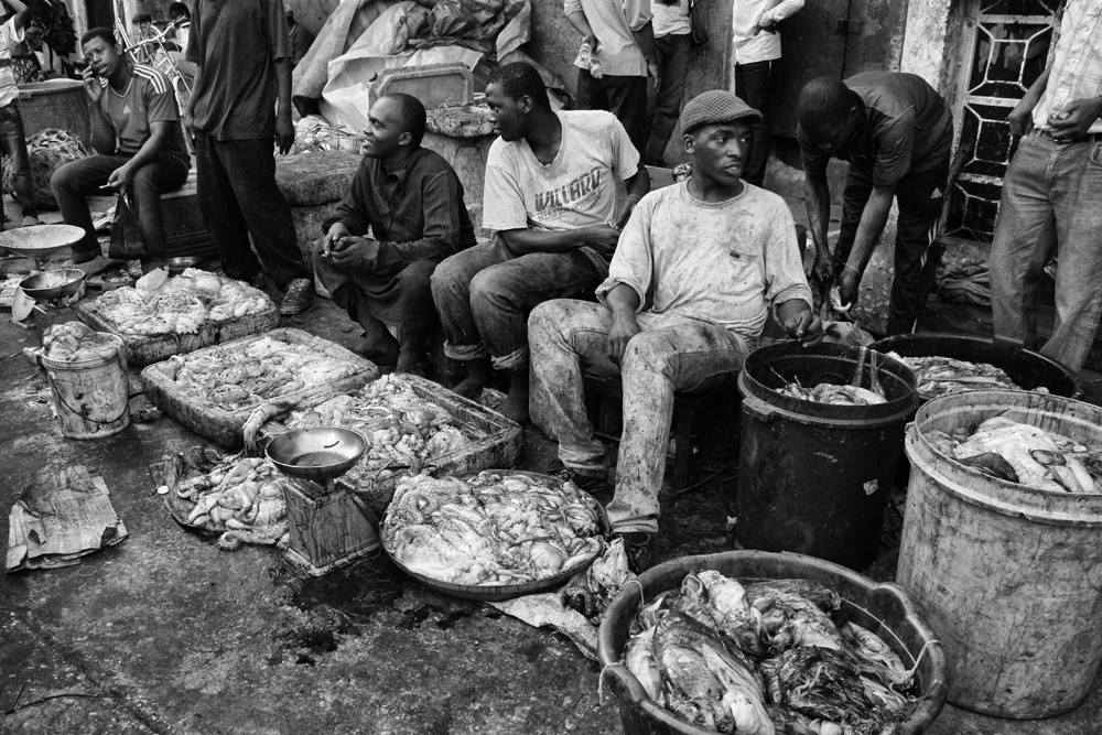
[[[98,334],[116,342],[115,355],[76,361],[40,358],[63,436],[99,439],[117,434],[130,423],[130,381],[122,339]]]

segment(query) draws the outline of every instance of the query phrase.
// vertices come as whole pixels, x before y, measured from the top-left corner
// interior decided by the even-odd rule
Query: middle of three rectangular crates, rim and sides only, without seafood
[[[145,398],[173,419],[194,431],[196,434],[206,436],[226,448],[236,450],[245,444],[245,440],[241,434],[241,431],[245,428],[245,422],[249,420],[252,411],[262,403],[278,401],[278,404],[280,406],[303,406],[309,408],[317,406],[322,401],[334,396],[341,396],[359,390],[368,382],[379,377],[379,369],[375,367],[374,363],[364,359],[352,350],[345,349],[341,345],[332,343],[328,339],[315,337],[303,332],[302,329],[291,329],[285,327],[272,329],[267,334],[257,334],[234,341],[233,343],[223,345],[220,349],[238,345],[244,348],[250,343],[263,337],[271,337],[272,339],[278,339],[292,345],[309,346],[313,350],[328,357],[335,357],[354,363],[359,366],[359,371],[355,375],[333,380],[322,386],[303,388],[302,390],[280,396],[273,401],[259,401],[240,409],[227,410],[215,406],[209,401],[197,399],[185,392],[175,380],[176,370],[179,368],[177,363],[175,360],[166,360],[164,363],[158,363],[156,365],[150,365],[141,371],[141,385],[142,390],[145,392]],[[196,354],[202,355],[213,352],[213,347],[207,347],[195,352]]]

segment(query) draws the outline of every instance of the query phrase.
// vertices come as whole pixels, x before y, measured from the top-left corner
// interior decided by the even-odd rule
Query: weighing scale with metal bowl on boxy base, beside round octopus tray
[[[321,576],[375,553],[378,522],[355,490],[337,478],[367,450],[359,432],[342,426],[292,429],[268,443],[264,455],[287,480],[287,559]]]

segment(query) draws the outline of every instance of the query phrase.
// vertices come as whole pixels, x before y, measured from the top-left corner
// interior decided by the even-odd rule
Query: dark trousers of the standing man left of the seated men
[[[222,269],[239,280],[262,269],[283,290],[292,279],[310,278],[310,270],[291,208],[276,184],[273,150],[271,138],[216,140],[195,131],[199,209],[222,255]]]

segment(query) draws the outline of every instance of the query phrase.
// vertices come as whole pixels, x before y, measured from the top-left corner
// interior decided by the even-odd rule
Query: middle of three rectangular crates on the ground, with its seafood
[[[150,402],[180,423],[238,448],[260,407],[315,406],[378,376],[372,363],[335,343],[279,328],[150,365],[141,385]]]

